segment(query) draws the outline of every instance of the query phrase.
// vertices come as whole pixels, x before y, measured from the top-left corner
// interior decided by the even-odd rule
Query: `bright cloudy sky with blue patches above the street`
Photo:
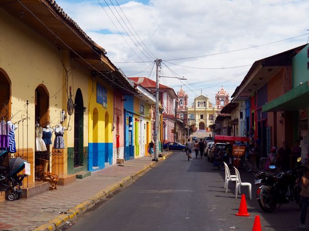
[[[176,93],[182,86],[189,102],[202,91],[214,103],[221,86],[232,95],[256,60],[309,39],[308,0],[56,2],[128,77],[155,80],[154,60],[162,59],[161,76],[187,80],[160,83]]]

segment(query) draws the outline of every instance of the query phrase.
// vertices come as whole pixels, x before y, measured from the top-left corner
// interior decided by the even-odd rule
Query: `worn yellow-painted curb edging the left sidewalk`
[[[164,155],[165,158],[171,156],[173,153],[169,152]],[[119,188],[126,188],[127,186],[133,184],[138,178],[143,176],[146,172],[151,170],[155,165],[163,162],[163,158],[159,158],[158,162],[151,162],[147,166],[143,167],[141,170],[137,171],[131,176],[127,176],[121,181],[117,182],[114,185],[108,186],[94,196],[88,198],[88,200],[78,204],[76,207],[70,208],[66,211],[66,214],[61,214],[56,216],[54,219],[48,221],[46,224],[39,226],[38,228],[32,231],[56,231],[62,226],[64,226],[68,221],[76,220],[77,217],[88,209],[94,207],[96,204],[103,201],[108,195],[112,194]]]

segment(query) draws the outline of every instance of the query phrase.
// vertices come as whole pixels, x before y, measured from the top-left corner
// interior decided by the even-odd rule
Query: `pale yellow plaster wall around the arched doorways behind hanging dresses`
[[[87,107],[88,98],[88,78],[90,71],[80,68],[79,65],[72,61],[68,51],[58,50],[56,46],[40,37],[33,30],[29,29],[23,23],[20,23],[15,18],[11,17],[5,11],[0,9],[0,68],[4,69],[11,80],[11,112],[15,115],[12,118],[13,122],[20,119],[20,110],[24,110],[26,100],[28,105],[28,136],[24,132],[24,145],[26,148],[26,139],[28,148],[35,149],[35,89],[39,84],[43,84],[48,89],[50,94],[50,118],[51,126],[55,126],[59,122],[59,115],[62,110],[67,111],[67,91],[64,86],[66,79],[66,69],[72,69],[68,75],[68,85],[72,86],[73,95],[77,88],[81,89],[84,100],[84,107]],[[63,63],[62,63],[63,60]],[[74,80],[74,84],[73,84]],[[63,87],[64,86],[64,87]],[[74,100],[74,96],[73,96]],[[65,127],[71,130],[65,132],[65,146],[74,146],[74,114],[69,116],[64,122]],[[20,134],[22,133],[22,124],[19,124]],[[26,124],[24,124],[26,131]],[[18,130],[16,131],[16,133]],[[84,146],[88,143],[88,116],[84,115]],[[52,137],[52,141],[54,135]],[[22,137],[16,136],[16,143],[22,147]],[[18,147],[17,147],[18,148]],[[30,155],[30,154],[29,154]],[[29,156],[28,161],[31,163],[30,182],[34,181],[34,157]],[[61,174],[67,173],[67,153],[64,149],[64,154],[61,160]]]

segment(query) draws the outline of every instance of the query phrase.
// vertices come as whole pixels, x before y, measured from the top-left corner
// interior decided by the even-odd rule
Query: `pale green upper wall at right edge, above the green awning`
[[[309,81],[309,70],[307,57],[309,45],[305,46],[297,55],[292,58],[293,88]]]

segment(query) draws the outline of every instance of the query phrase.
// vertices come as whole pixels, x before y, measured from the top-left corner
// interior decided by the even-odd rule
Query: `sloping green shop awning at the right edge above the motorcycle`
[[[305,82],[262,106],[262,112],[299,110],[309,105],[309,82]]]

